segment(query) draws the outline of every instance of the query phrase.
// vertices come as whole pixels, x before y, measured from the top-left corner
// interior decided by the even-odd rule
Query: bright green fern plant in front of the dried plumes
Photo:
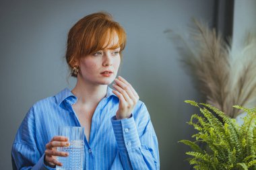
[[[192,151],[186,154],[191,156],[188,161],[194,169],[256,169],[256,108],[234,105],[234,108],[247,112],[244,124],[238,126],[236,120],[210,104],[185,102],[201,112],[200,115],[193,114],[188,122],[197,130],[192,136],[195,141],[179,141],[191,147]],[[200,144],[206,147],[201,148]]]

